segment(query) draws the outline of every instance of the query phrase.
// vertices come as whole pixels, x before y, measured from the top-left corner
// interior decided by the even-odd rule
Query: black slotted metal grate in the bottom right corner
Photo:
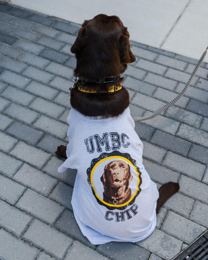
[[[207,260],[208,231],[172,260]]]

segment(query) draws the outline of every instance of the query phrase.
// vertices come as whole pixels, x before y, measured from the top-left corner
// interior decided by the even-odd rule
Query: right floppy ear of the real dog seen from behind
[[[124,64],[136,61],[134,54],[130,50],[129,33],[126,29],[125,35],[121,35],[119,39],[119,53],[121,62]]]

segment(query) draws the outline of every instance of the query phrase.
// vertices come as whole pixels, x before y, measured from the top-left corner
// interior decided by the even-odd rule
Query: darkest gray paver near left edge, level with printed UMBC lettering
[[[35,145],[43,136],[42,132],[17,121],[6,129],[6,133],[32,145]]]

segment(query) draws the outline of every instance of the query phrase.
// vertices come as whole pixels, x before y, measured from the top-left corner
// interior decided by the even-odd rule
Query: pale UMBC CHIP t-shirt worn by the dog
[[[90,119],[71,109],[67,159],[77,169],[75,219],[92,244],[138,242],[156,225],[157,186],[142,164],[143,145],[127,108],[118,118]]]

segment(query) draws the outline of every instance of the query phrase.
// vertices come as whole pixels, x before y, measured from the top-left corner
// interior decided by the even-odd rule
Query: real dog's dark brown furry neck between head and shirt
[[[122,79],[116,81],[116,85],[120,85]],[[107,90],[115,85],[115,82],[103,84],[84,84],[84,89],[89,91],[107,92]],[[82,85],[81,85],[82,86]],[[86,93],[78,89],[71,92],[71,105],[81,114],[97,118],[98,116],[105,119],[110,117],[118,117],[129,106],[128,91],[122,88],[114,94],[107,93]]]

